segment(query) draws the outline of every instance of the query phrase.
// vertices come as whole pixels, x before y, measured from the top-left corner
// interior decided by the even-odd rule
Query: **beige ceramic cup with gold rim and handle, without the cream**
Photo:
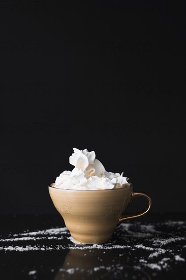
[[[149,195],[133,192],[132,184],[106,190],[72,190],[55,188],[53,183],[49,186],[49,194],[71,236],[86,244],[107,242],[122,221],[144,215],[151,206]],[[137,197],[148,200],[147,208],[137,214],[123,214]]]

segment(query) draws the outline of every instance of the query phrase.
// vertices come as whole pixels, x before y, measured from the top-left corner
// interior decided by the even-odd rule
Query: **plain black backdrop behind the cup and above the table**
[[[124,171],[152,212],[185,211],[184,14],[184,1],[1,2],[1,214],[53,213],[48,184],[73,147]]]

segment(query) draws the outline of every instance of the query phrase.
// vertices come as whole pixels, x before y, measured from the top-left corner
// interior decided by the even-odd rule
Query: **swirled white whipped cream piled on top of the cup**
[[[55,180],[55,187],[61,189],[113,189],[129,186],[128,178],[119,173],[107,172],[103,164],[96,159],[94,151],[73,148],[69,162],[74,165],[72,171],[64,171]]]

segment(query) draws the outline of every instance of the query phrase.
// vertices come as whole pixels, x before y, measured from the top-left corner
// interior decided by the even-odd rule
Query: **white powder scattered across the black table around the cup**
[[[49,250],[89,250],[91,253],[94,250],[103,250],[103,253],[106,253],[107,250],[112,249],[120,249],[121,251],[118,251],[118,256],[131,256],[136,254],[135,258],[135,266],[136,269],[142,269],[142,268],[149,268],[157,271],[161,271],[163,269],[168,269],[171,267],[172,263],[175,263],[175,261],[184,262],[185,259],[180,257],[180,254],[182,252],[182,248],[185,248],[186,245],[181,245],[180,241],[184,241],[185,238],[183,237],[184,234],[181,233],[179,227],[181,229],[185,229],[184,221],[166,221],[163,223],[154,223],[145,225],[141,222],[134,222],[134,223],[122,223],[120,227],[117,227],[115,229],[115,236],[111,238],[111,240],[104,244],[82,244],[80,242],[75,241],[71,236],[70,232],[66,227],[64,228],[57,228],[57,229],[46,229],[46,230],[37,230],[37,231],[31,231],[31,232],[23,232],[19,234],[10,234],[8,238],[0,239],[0,241],[5,242],[5,246],[0,247],[0,250],[4,251],[18,251],[18,252],[24,252],[24,251],[49,251]],[[160,231],[157,230],[159,226],[166,225],[168,227],[168,233],[166,235]],[[173,229],[175,227],[175,229]],[[170,228],[170,230],[169,230]],[[152,238],[152,236],[154,236]],[[165,238],[165,236],[168,236],[168,238]],[[151,237],[151,238],[149,238]],[[139,240],[135,240],[135,238],[141,238],[140,242]],[[66,240],[68,242],[61,243],[58,240]],[[50,245],[42,245],[42,241],[45,240],[55,240],[55,243],[52,243]],[[143,243],[143,240],[145,240],[145,243]],[[24,246],[16,246],[16,242],[18,241],[25,241],[26,245]],[[32,241],[32,245],[29,245],[29,241]],[[35,243],[36,241],[36,243]],[[37,241],[40,241],[40,245],[37,244]],[[138,243],[137,243],[137,242]],[[12,243],[13,242],[13,243]],[[35,245],[33,245],[33,242]],[[135,243],[134,243],[135,242]],[[137,244],[136,244],[137,243]],[[171,244],[174,243],[174,246]],[[176,243],[176,247],[175,247]],[[22,243],[21,243],[22,244]],[[24,244],[24,243],[23,243]],[[145,244],[145,245],[144,245]],[[169,245],[169,247],[167,246]],[[19,244],[20,245],[20,244]],[[172,247],[171,247],[172,246]],[[145,257],[142,255],[141,250],[145,251]],[[90,254],[89,253],[89,254]],[[121,254],[119,254],[121,253]],[[160,256],[163,254],[167,254],[167,258],[160,259]],[[87,254],[84,254],[86,256]],[[141,257],[139,257],[141,255]],[[101,257],[101,256],[100,256]],[[101,262],[102,258],[98,258],[98,260]],[[156,260],[156,262],[154,262]],[[112,260],[114,261],[114,260]],[[68,269],[60,269],[60,271],[66,272],[68,274],[74,274],[77,271],[83,271],[83,269],[80,268],[73,268],[68,266]],[[117,273],[120,273],[123,266],[119,264],[114,265],[108,265],[108,266],[96,266],[95,268],[92,267],[92,269],[87,270],[87,273],[90,275],[98,270],[105,269],[109,272],[116,273],[114,275],[118,275]],[[33,270],[33,275],[36,273],[35,270]],[[32,273],[30,271],[29,273]],[[32,275],[32,274],[29,274]],[[36,277],[36,276],[35,276]]]

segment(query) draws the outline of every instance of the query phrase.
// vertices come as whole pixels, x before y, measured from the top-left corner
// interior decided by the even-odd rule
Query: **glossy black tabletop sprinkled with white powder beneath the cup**
[[[56,215],[1,216],[1,279],[185,279],[186,220],[146,214],[105,244],[77,244]]]

